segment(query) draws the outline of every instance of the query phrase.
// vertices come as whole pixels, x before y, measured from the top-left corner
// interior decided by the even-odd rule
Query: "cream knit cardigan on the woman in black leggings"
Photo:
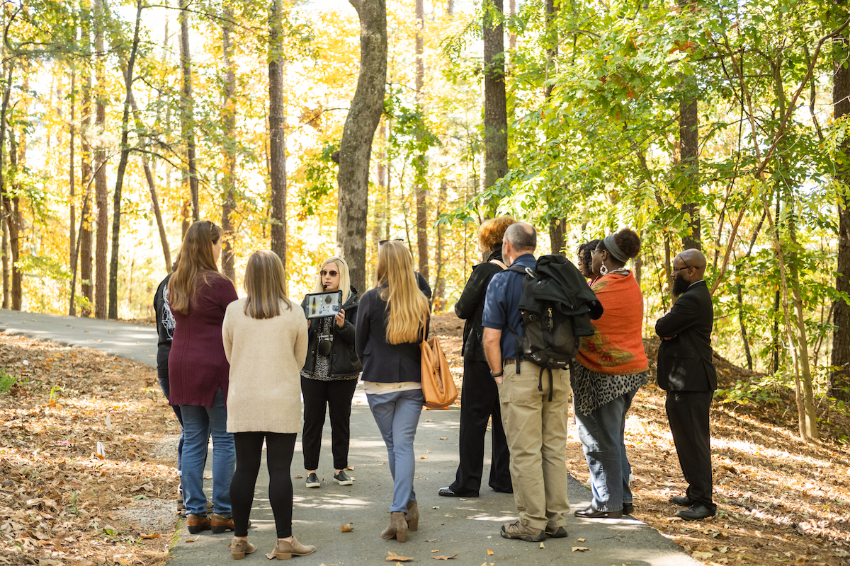
[[[301,368],[307,359],[307,319],[297,305],[279,316],[245,314],[246,298],[224,313],[224,354],[230,362],[227,432],[301,432]]]

